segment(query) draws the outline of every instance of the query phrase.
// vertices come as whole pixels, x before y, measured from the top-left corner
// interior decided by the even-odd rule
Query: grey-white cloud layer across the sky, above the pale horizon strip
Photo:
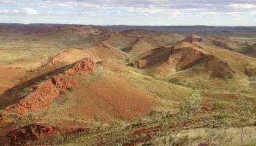
[[[0,15],[111,19],[241,19],[256,21],[255,0],[0,0]],[[220,17],[220,18],[217,18]],[[250,17],[250,18],[249,18]]]

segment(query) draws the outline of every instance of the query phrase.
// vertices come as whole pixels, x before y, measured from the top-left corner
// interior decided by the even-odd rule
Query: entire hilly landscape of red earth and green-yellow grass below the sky
[[[0,145],[240,145],[242,127],[256,144],[254,43],[240,33],[1,24],[0,35]]]

